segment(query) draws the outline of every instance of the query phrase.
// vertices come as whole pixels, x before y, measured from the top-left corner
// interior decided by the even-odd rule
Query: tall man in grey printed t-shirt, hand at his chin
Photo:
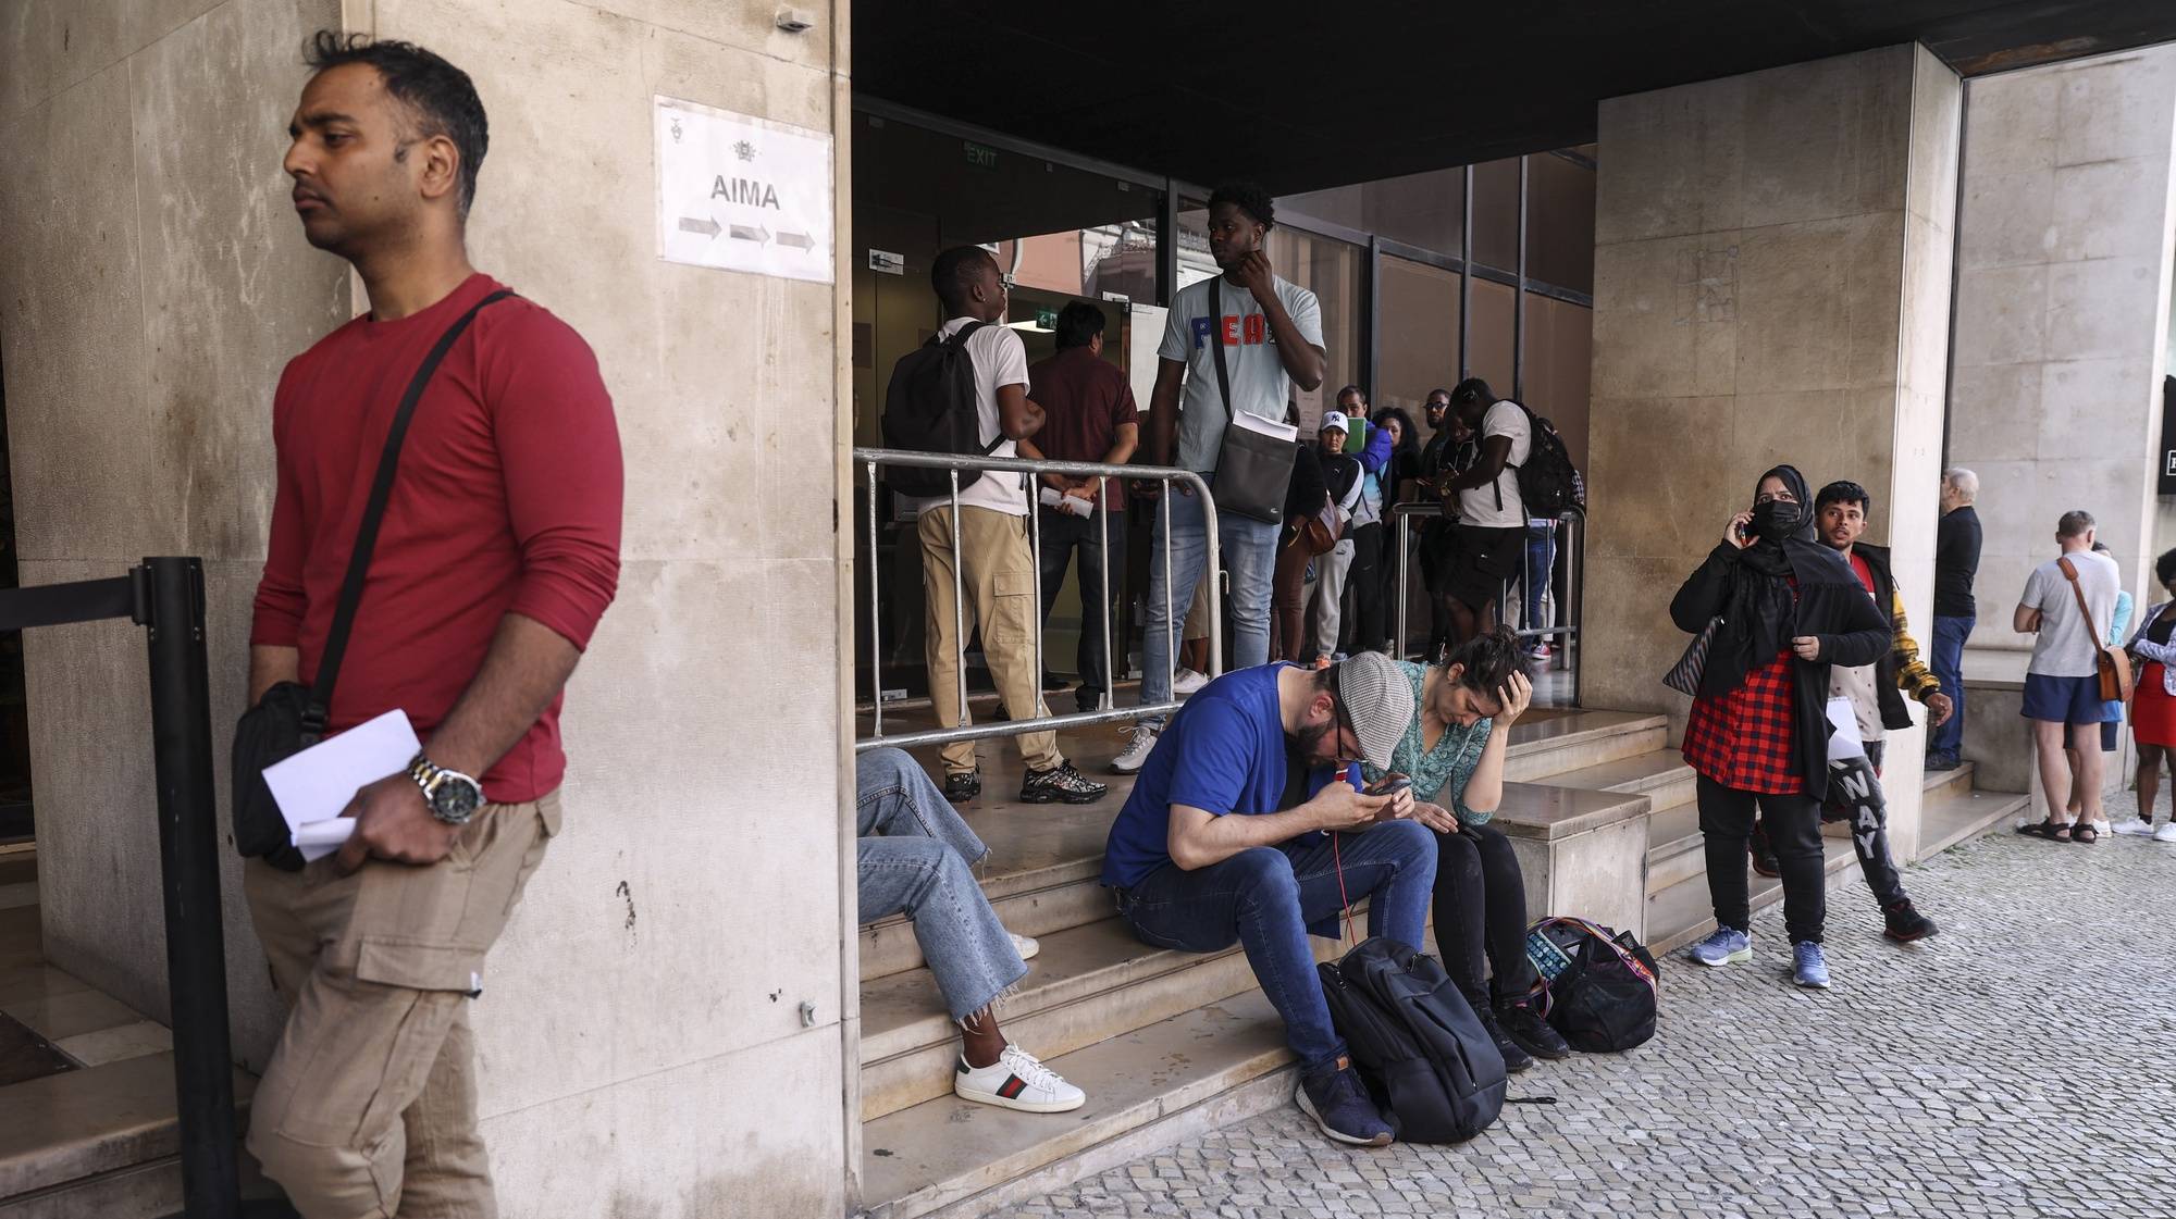
[[[1182,466],[1214,481],[1216,455],[1223,448],[1227,418],[1251,414],[1284,422],[1293,385],[1323,385],[1323,309],[1314,294],[1279,279],[1269,266],[1262,242],[1277,220],[1277,207],[1258,185],[1229,183],[1210,194],[1210,257],[1223,274],[1182,287],[1171,298],[1164,322],[1164,346],[1158,348],[1155,392],[1149,394],[1149,435],[1142,459],[1151,466]],[[1216,350],[1223,348],[1229,396],[1219,387]],[[1184,394],[1186,409],[1179,409]],[[1284,496],[1286,488],[1271,488]],[[1158,494],[1158,483],[1138,483],[1136,498]],[[1166,522],[1155,512],[1155,544],[1166,544]],[[1208,553],[1208,522],[1201,496],[1177,488],[1171,496],[1169,588],[1186,590],[1177,605],[1166,605],[1162,557],[1149,559],[1149,605],[1142,640],[1140,705],[1171,701],[1173,614],[1184,614],[1188,594],[1203,570],[1216,570]],[[1277,575],[1277,533],[1282,520],[1256,520],[1236,512],[1216,512],[1216,535],[1223,562],[1232,570],[1232,653],[1229,668],[1269,664],[1269,594]],[[1173,631],[1175,633],[1175,631]],[[1134,740],[1112,762],[1121,775],[1140,771],[1162,731],[1160,716],[1142,718]]]

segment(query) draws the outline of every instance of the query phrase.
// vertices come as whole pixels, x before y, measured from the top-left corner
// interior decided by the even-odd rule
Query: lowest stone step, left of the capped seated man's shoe
[[[1290,1104],[1284,1023],[1260,990],[1049,1058],[1088,1104],[1027,1115],[953,1095],[862,1125],[868,1219],[973,1219]]]

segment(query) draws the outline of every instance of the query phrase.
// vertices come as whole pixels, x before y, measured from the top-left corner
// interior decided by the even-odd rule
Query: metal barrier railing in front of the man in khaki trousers
[[[962,568],[962,564],[960,564],[960,472],[962,470],[1018,470],[1023,475],[1073,475],[1073,477],[1081,477],[1081,479],[1101,479],[1103,492],[1097,494],[1095,516],[1097,516],[1097,525],[1101,529],[1101,540],[1103,540],[1103,553],[1105,555],[1110,555],[1110,505],[1108,505],[1108,498],[1110,498],[1110,479],[1132,479],[1132,481],[1164,483],[1164,494],[1158,496],[1158,509],[1164,514],[1164,520],[1162,520],[1164,522],[1164,644],[1166,644],[1164,647],[1164,657],[1169,662],[1173,662],[1173,666],[1177,664],[1177,653],[1179,653],[1177,644],[1179,644],[1179,640],[1177,640],[1177,618],[1171,612],[1173,610],[1173,601],[1171,601],[1171,592],[1173,592],[1171,590],[1171,483],[1186,483],[1188,488],[1192,488],[1192,494],[1201,496],[1201,516],[1203,516],[1203,525],[1208,529],[1208,553],[1210,553],[1210,564],[1212,564],[1208,570],[1210,572],[1216,570],[1214,568],[1214,562],[1216,562],[1216,555],[1219,555],[1216,501],[1210,498],[1210,488],[1208,488],[1208,483],[1201,481],[1201,475],[1195,475],[1192,470],[1169,468],[1169,466],[1112,466],[1112,464],[1105,464],[1105,461],[1049,461],[1049,459],[1029,461],[1025,457],[981,457],[981,455],[966,457],[966,455],[953,455],[953,453],[912,453],[912,451],[903,451],[903,448],[855,448],[853,451],[853,459],[855,459],[855,464],[862,466],[862,470],[866,475],[866,490],[868,490],[868,562],[870,562],[870,577],[868,577],[868,653],[870,653],[870,677],[873,677],[873,681],[870,681],[870,694],[875,697],[873,699],[873,707],[870,707],[870,714],[875,716],[875,723],[870,727],[870,736],[860,738],[860,740],[853,742],[855,753],[862,753],[866,749],[875,749],[879,744],[890,744],[890,747],[901,747],[901,749],[910,747],[910,744],[951,744],[955,740],[988,740],[988,738],[994,738],[994,736],[1021,736],[1021,734],[1029,734],[1029,731],[1049,731],[1049,729],[1060,729],[1060,727],[1081,727],[1081,725],[1099,725],[1099,723],[1145,718],[1145,716],[1166,716],[1166,714],[1179,710],[1179,705],[1182,705],[1179,701],[1164,701],[1164,703],[1158,703],[1153,707],[1147,707],[1147,705],[1142,705],[1142,707],[1116,707],[1114,701],[1112,701],[1112,690],[1105,688],[1103,690],[1103,701],[1101,701],[1103,705],[1099,710],[1095,710],[1095,712],[1077,712],[1077,714],[1071,714],[1071,716],[1034,716],[1034,718],[1027,718],[1027,721],[1005,721],[1005,723],[992,723],[992,725],[934,727],[934,729],[927,729],[927,731],[901,731],[901,734],[886,736],[883,734],[883,638],[881,638],[883,581],[879,579],[879,570],[877,570],[877,527],[879,527],[879,522],[877,522],[877,468],[879,466],[910,466],[910,468],[920,468],[920,470],[949,470],[951,472],[949,507],[951,507],[951,544],[953,544],[953,647],[957,649],[957,657],[955,657],[955,666],[953,666],[953,679],[957,681],[957,699],[960,699],[957,705],[960,705],[962,718],[966,716],[966,607],[964,607],[964,588],[962,588],[964,581],[962,581],[962,575],[960,575],[960,568]],[[1040,703],[1040,688],[1042,688],[1042,509],[1036,505],[1036,498],[1038,496],[1031,490],[1029,492],[1027,529],[1029,529],[1029,553],[1034,557],[1034,572],[1036,572],[1036,636],[1034,636],[1036,638],[1036,660],[1034,660],[1034,664],[1036,664],[1036,688],[1038,688],[1038,703]],[[1110,640],[1110,564],[1108,562],[1103,564],[1103,588],[1101,588],[1101,594],[1103,594],[1103,605],[1105,605],[1105,610],[1103,610],[1103,673],[1105,673],[1105,686],[1116,686],[1118,657],[1112,653],[1112,640]],[[1210,664],[1210,670],[1208,670],[1208,675],[1216,677],[1223,670],[1223,588],[1221,588],[1221,581],[1216,581],[1216,579],[1208,581],[1208,596],[1210,596],[1210,603],[1208,603],[1208,612],[1210,612],[1208,614],[1210,616],[1210,662],[1208,664]],[[1186,599],[1192,601],[1192,590],[1186,592]]]

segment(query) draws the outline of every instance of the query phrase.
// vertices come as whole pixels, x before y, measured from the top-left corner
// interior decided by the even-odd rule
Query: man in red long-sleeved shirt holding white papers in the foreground
[[[333,33],[309,65],[285,172],[370,313],[287,364],[272,403],[252,703],[316,677],[400,394],[500,290],[463,242],[485,150],[468,74]],[[416,407],[331,703],[331,731],[407,712],[422,753],[355,792],[337,855],[246,869],[292,1006],[248,1145],[307,1219],[496,1215],[468,1003],[559,829],[559,699],[618,583],[620,488],[588,344],[529,300],[483,307]]]

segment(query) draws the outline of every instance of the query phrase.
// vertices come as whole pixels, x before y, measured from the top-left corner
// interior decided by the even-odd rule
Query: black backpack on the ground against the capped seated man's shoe
[[[1406,1143],[1464,1143],[1504,1112],[1504,1054],[1443,962],[1375,936],[1314,966],[1360,1080]]]

